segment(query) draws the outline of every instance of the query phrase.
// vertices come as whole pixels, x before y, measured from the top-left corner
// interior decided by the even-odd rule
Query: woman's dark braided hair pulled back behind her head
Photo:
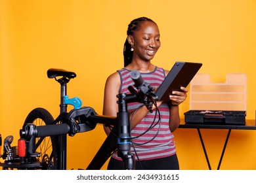
[[[131,23],[128,25],[127,37],[129,35],[134,35],[134,32],[139,29],[140,24],[145,21],[153,22],[154,24],[156,24],[156,22],[154,22],[150,18],[146,18],[146,17],[140,17],[135,20],[132,20]],[[129,65],[129,63],[131,63],[131,61],[133,59],[133,52],[131,51],[131,44],[129,44],[127,39],[125,40],[125,44],[123,46],[123,59],[124,59],[125,67],[127,65]]]

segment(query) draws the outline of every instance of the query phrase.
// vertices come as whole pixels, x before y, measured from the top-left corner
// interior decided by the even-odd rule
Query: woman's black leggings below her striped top
[[[150,159],[144,161],[136,161],[136,170],[179,170],[179,161],[177,155],[166,158]],[[110,158],[108,170],[125,170],[123,161]]]

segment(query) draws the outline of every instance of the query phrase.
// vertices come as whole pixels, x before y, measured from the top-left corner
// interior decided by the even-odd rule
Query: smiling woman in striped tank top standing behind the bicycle
[[[143,80],[153,88],[160,86],[168,71],[151,63],[160,46],[160,31],[154,21],[146,17],[131,21],[123,49],[124,67],[106,80],[104,115],[117,115],[116,95],[130,93],[128,86],[134,84],[130,77],[131,71],[139,71]],[[152,113],[141,103],[128,103],[135,169],[179,169],[172,132],[179,127],[179,105],[186,99],[188,92],[184,87],[181,87],[181,91],[173,92],[169,101],[158,101],[156,106],[153,105]],[[160,115],[156,113],[156,107]],[[152,123],[156,124],[153,128],[150,127]],[[104,130],[107,135],[110,133],[108,127],[104,126]],[[110,158],[108,169],[125,169],[117,154]]]

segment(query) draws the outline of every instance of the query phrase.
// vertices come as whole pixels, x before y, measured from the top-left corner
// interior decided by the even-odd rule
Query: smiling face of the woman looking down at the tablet
[[[133,59],[150,61],[161,46],[158,25],[150,21],[142,22],[127,39],[133,45]]]

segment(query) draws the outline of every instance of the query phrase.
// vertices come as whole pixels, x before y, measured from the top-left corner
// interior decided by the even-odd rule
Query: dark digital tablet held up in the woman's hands
[[[156,100],[169,101],[169,95],[181,91],[181,86],[186,88],[200,67],[202,63],[177,61],[156,91]]]

